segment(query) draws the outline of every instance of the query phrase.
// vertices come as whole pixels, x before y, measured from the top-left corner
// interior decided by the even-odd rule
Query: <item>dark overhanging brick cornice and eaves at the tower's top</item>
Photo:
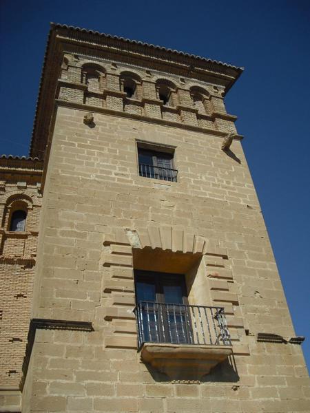
[[[189,78],[206,79],[206,76],[209,76],[222,83],[225,92],[234,84],[243,70],[241,67],[165,49],[165,47],[156,47],[92,30],[81,30],[52,23],[48,35],[30,145],[30,153],[39,155],[40,158],[45,156],[48,135],[53,127],[51,119],[54,111],[56,83],[60,77],[61,61],[66,48],[71,48],[72,52],[76,53],[87,50],[87,54],[99,54],[112,61],[120,60],[131,64],[139,62],[145,67],[154,67],[155,65],[160,67],[163,72],[172,70],[182,76],[186,74]]]

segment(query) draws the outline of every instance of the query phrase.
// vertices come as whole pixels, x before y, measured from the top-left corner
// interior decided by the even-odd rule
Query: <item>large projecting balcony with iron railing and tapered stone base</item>
[[[232,353],[224,309],[139,301],[141,359],[173,380],[197,380]]]

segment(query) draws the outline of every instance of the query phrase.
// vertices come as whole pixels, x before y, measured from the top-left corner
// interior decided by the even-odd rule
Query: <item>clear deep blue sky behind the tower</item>
[[[310,366],[310,1],[2,0],[0,153],[28,154],[49,22],[244,66],[227,95]]]

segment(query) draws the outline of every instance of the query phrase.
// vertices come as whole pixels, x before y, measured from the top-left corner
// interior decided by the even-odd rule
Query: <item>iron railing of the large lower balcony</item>
[[[139,301],[134,313],[138,348],[147,342],[231,346],[223,307]]]

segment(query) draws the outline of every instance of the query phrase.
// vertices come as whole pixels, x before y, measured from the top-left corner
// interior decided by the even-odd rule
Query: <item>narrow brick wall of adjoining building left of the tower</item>
[[[20,406],[22,366],[32,304],[41,173],[39,160],[0,158],[0,404]],[[25,231],[10,231],[17,209],[27,211]]]

